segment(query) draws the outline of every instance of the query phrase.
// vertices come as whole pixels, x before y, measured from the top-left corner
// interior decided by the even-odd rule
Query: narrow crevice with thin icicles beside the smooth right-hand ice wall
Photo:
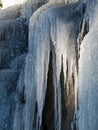
[[[86,10],[85,10],[86,11]],[[76,129],[79,130],[79,108],[80,108],[80,99],[79,99],[79,73],[80,73],[80,65],[79,65],[79,59],[81,58],[81,44],[83,40],[85,39],[86,35],[89,32],[89,19],[88,16],[86,15],[86,12],[84,13],[84,18],[83,21],[80,23],[80,29],[79,29],[79,34],[78,34],[78,39],[77,39],[77,48],[76,48],[76,59],[77,59],[77,74],[75,77],[75,115],[74,115],[74,124],[76,125]]]

